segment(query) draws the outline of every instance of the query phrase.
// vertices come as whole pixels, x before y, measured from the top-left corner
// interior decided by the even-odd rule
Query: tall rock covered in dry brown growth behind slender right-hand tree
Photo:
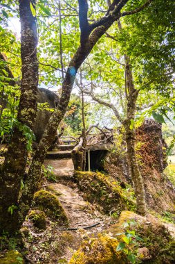
[[[151,210],[158,213],[174,212],[175,189],[163,174],[167,166],[166,145],[163,140],[161,124],[153,119],[146,120],[136,129],[136,151],[140,174],[144,181],[146,202]],[[120,183],[131,182],[125,142],[116,147],[116,151],[104,159],[104,170]]]

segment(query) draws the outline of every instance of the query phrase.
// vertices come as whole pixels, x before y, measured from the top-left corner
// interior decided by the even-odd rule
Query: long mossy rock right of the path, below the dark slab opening
[[[121,186],[107,175],[100,172],[75,172],[74,178],[86,199],[102,206],[104,213],[120,213],[125,209],[136,208],[136,201],[126,197]]]

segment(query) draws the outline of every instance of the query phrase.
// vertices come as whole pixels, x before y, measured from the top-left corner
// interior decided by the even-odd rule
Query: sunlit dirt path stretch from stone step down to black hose
[[[70,226],[73,228],[82,228],[100,222],[98,226],[93,227],[88,233],[102,231],[111,221],[111,217],[102,215],[95,209],[93,204],[84,201],[83,192],[77,188],[77,184],[71,181],[73,176],[73,162],[71,159],[45,160],[45,166],[50,165],[54,168],[53,173],[58,183],[50,183],[46,190],[53,192],[59,198],[64,210],[68,216]]]

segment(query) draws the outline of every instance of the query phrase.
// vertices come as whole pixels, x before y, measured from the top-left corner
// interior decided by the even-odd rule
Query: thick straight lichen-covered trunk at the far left
[[[34,3],[34,1],[33,1]],[[21,20],[21,97],[15,127],[0,176],[0,233],[15,232],[17,211],[19,209],[19,192],[26,170],[28,151],[26,148],[25,127],[30,129],[37,110],[37,25],[36,18],[30,10],[30,0],[19,1]],[[24,126],[25,125],[25,126]],[[24,130],[23,130],[24,129]]]

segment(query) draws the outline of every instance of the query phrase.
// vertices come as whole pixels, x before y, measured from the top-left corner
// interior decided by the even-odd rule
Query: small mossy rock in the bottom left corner
[[[10,250],[0,258],[0,264],[24,264],[24,259],[19,251]]]

